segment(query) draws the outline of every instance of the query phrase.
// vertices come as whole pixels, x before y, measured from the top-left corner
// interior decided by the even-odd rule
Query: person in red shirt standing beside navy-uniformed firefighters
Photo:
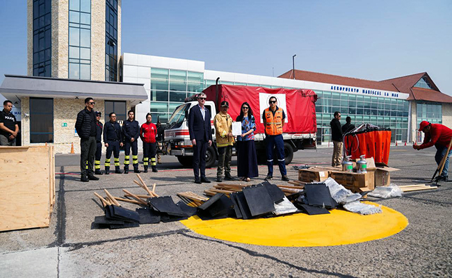
[[[149,167],[151,160],[152,172],[157,172],[157,163],[155,162],[155,154],[157,149],[156,143],[157,127],[152,124],[152,115],[147,113],[146,122],[141,125],[140,138],[143,141],[143,164],[145,165],[145,173]]]

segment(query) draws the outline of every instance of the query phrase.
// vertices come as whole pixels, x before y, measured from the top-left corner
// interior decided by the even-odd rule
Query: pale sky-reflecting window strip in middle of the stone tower
[[[69,78],[91,79],[91,0],[69,1]]]

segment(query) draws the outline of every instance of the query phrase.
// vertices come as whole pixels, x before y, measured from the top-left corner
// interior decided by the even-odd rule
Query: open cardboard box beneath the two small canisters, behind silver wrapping
[[[362,192],[375,189],[375,172],[373,170],[366,173],[332,171],[330,172],[330,177],[353,192]],[[360,188],[365,188],[365,190]]]

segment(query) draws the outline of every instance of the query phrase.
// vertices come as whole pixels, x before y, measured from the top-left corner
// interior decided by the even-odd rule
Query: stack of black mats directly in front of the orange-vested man
[[[284,193],[274,184],[265,181],[247,186],[241,192],[231,193],[229,196],[236,218],[250,219],[271,215],[275,211],[274,204],[282,201]]]

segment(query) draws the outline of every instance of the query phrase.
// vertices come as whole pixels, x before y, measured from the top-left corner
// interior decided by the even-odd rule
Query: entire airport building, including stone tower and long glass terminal
[[[392,142],[421,140],[419,122],[452,126],[452,97],[442,93],[427,72],[370,81],[289,70],[278,77],[206,70],[205,63],[159,56],[121,55],[121,0],[28,0],[27,76],[6,75],[0,94],[13,101],[21,123],[22,145],[56,145],[70,152],[79,139],[76,113],[93,97],[104,120],[115,112],[125,120],[166,123],[184,99],[219,83],[266,88],[314,90],[317,142],[330,142],[334,111],[362,122],[392,129]],[[403,73],[405,74],[405,73]],[[402,74],[401,74],[402,75]]]

